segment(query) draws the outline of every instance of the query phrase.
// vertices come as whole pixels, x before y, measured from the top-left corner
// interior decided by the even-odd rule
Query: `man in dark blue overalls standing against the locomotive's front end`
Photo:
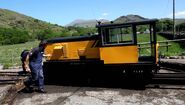
[[[32,74],[32,82],[38,86],[37,92],[45,93],[44,90],[44,75],[42,67],[42,59],[44,49],[46,47],[46,41],[41,41],[39,46],[33,48],[29,54],[29,67]]]

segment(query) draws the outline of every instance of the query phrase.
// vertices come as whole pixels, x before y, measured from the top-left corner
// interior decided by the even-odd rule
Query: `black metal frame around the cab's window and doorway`
[[[153,62],[156,62],[156,44],[157,44],[157,37],[156,37],[156,22],[157,19],[145,20],[145,21],[138,21],[138,22],[127,22],[127,23],[120,23],[120,24],[98,24],[96,27],[98,28],[99,35],[101,36],[101,46],[102,47],[110,47],[110,46],[129,46],[129,45],[137,45],[137,26],[140,25],[149,25],[150,30],[150,44],[151,44],[151,57]],[[121,27],[131,27],[133,33],[133,43],[114,43],[114,44],[105,44],[104,43],[104,35],[102,34],[102,29],[107,28],[121,28]]]

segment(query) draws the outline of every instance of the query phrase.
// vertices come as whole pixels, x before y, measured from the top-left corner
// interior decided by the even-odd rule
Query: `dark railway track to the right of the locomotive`
[[[154,74],[152,84],[185,85],[185,60],[161,59],[159,65],[166,72]]]

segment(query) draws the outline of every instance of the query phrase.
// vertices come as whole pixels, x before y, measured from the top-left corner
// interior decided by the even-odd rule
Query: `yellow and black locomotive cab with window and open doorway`
[[[105,64],[157,63],[156,21],[98,25],[101,36],[101,59],[104,60]],[[140,42],[142,39],[141,32],[138,32],[138,29],[143,25],[148,26],[149,31],[146,41],[148,52],[144,52],[144,54],[140,51],[143,50],[143,47],[141,47],[143,43]],[[142,32],[142,34],[145,33]]]

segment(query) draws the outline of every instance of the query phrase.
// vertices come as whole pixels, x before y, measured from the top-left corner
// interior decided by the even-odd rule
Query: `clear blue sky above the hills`
[[[185,0],[175,0],[176,18],[185,18]],[[115,20],[129,14],[166,18],[173,0],[0,0],[0,8],[65,26],[77,19]]]

